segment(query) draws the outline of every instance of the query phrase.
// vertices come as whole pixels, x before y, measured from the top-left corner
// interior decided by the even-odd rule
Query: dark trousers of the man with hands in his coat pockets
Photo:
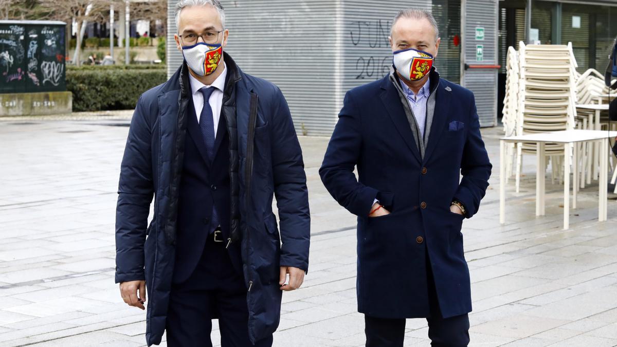
[[[431,317],[428,321],[428,337],[431,346],[463,347],[469,344],[469,317],[467,314],[444,318],[439,310],[437,291],[431,262],[426,259],[428,299]],[[385,319],[364,316],[366,347],[402,347],[405,340],[405,319]]]

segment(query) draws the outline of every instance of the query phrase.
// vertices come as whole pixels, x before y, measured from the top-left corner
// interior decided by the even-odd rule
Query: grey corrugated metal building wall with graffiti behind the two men
[[[182,62],[173,35],[177,0],[168,1],[167,66]],[[276,83],[297,131],[329,136],[347,90],[391,69],[388,36],[400,9],[432,10],[441,36],[435,67],[472,90],[483,127],[497,124],[497,0],[222,0],[241,68]]]

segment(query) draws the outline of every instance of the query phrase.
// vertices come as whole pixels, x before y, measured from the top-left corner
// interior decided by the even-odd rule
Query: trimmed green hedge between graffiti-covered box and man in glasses
[[[166,80],[167,70],[160,65],[159,69],[67,69],[67,90],[73,93],[76,112],[133,109],[144,91]]]

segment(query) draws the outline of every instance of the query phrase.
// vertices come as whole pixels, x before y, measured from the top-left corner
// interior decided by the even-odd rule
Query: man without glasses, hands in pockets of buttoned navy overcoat
[[[347,92],[320,169],[329,193],[358,216],[368,347],[403,346],[405,319],[418,317],[433,346],[470,341],[461,227],[478,212],[492,165],[473,93],[433,68],[440,41],[430,12],[399,12],[391,73]]]

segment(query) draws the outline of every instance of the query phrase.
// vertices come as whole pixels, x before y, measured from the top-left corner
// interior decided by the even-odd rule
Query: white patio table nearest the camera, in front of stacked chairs
[[[598,197],[598,220],[607,220],[607,176],[608,176],[608,146],[609,138],[617,136],[617,132],[605,130],[565,130],[552,133],[537,133],[519,136],[508,136],[499,139],[499,222],[505,223],[505,144],[506,143],[536,143],[536,215],[544,215],[545,198],[545,175],[546,157],[544,146],[546,143],[563,143],[564,152],[569,153],[569,148],[574,143],[590,142],[598,143],[600,149],[600,188]],[[573,182],[578,182],[578,157],[579,146],[574,146],[573,157],[564,156],[563,169],[563,228],[569,228],[569,190],[570,190],[570,164],[574,165]],[[576,183],[574,183],[576,185]],[[573,190],[573,208],[576,208],[576,187]]]

